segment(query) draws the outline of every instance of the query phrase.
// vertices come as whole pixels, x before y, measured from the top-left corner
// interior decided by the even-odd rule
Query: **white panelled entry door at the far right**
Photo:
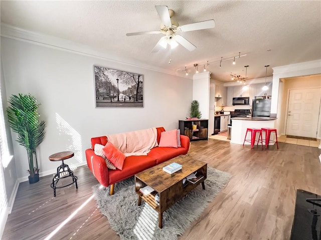
[[[316,137],[321,88],[290,90],[287,135]]]

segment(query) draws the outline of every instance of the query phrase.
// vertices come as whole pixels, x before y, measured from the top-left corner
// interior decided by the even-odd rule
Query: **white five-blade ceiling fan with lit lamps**
[[[171,48],[175,48],[180,43],[182,46],[187,48],[190,51],[195,50],[196,46],[189,42],[183,36],[177,34],[177,32],[184,32],[184,31],[194,31],[206,28],[213,28],[215,27],[214,19],[195,22],[191,24],[186,24],[180,26],[177,21],[172,19],[174,15],[174,10],[169,9],[167,6],[163,5],[155,5],[156,11],[161,18],[162,24],[160,30],[155,31],[140,31],[140,32],[130,32],[126,33],[126,36],[134,36],[134,35],[143,35],[143,34],[158,34],[163,33],[165,36],[161,37],[157,44],[152,49],[152,52],[157,52],[161,47],[166,48],[167,44],[171,46]]]

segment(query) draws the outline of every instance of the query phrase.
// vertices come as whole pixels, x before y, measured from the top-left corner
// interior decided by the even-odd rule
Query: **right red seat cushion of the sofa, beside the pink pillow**
[[[170,160],[179,155],[185,154],[186,149],[184,147],[154,147],[150,150],[147,156],[156,159],[156,164]]]

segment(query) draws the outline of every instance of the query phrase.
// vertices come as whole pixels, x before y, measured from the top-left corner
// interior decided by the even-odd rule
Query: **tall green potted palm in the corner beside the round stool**
[[[39,121],[36,97],[30,94],[12,95],[7,107],[9,125],[14,132],[18,133],[17,141],[23,145],[28,154],[29,183],[39,181],[39,168],[36,148],[45,137],[45,121]]]

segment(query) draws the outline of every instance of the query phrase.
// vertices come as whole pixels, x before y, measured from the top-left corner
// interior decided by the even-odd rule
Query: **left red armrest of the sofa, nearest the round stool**
[[[108,168],[104,158],[95,154],[93,149],[86,149],[87,165],[99,183],[103,186],[109,185]]]

